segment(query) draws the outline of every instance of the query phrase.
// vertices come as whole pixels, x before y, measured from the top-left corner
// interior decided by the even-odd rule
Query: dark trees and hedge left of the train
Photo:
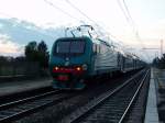
[[[30,42],[24,48],[24,56],[0,56],[0,76],[48,75],[48,51],[44,41]]]

